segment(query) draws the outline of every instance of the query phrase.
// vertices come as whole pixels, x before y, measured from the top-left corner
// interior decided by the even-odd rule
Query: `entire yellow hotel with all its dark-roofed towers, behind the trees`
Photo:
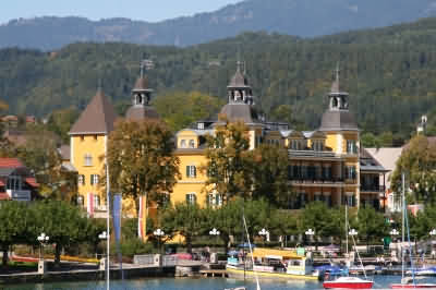
[[[329,106],[322,117],[320,126],[311,132],[300,132],[287,123],[268,122],[257,116],[254,96],[246,75],[238,70],[227,87],[228,102],[220,114],[229,121],[243,121],[249,128],[250,147],[261,143],[284,146],[289,150],[289,185],[296,193],[288,208],[301,208],[312,201],[328,206],[373,206],[382,208],[384,186],[380,178],[386,170],[360,147],[360,130],[349,111],[349,94],[340,90],[339,75],[327,95]],[[133,90],[133,106],[125,118],[131,120],[158,119],[150,106],[147,78],[141,75]],[[78,173],[78,202],[89,215],[106,214],[106,193],[98,188],[104,173],[108,135],[117,116],[99,89],[73,125],[71,136],[71,164]],[[206,164],[207,134],[214,134],[217,120],[199,120],[192,126],[177,132],[175,155],[180,158],[181,179],[170,195],[173,204],[180,202],[217,206],[222,196],[205,191],[206,177],[198,170]],[[125,201],[123,204],[126,204]]]

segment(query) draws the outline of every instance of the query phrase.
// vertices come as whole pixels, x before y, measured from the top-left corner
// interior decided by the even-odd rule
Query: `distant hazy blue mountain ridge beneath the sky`
[[[147,3],[144,20],[149,16]],[[190,46],[243,32],[314,37],[383,27],[436,14],[436,0],[245,0],[217,11],[149,23],[45,16],[0,25],[0,48],[59,49],[77,41]]]

